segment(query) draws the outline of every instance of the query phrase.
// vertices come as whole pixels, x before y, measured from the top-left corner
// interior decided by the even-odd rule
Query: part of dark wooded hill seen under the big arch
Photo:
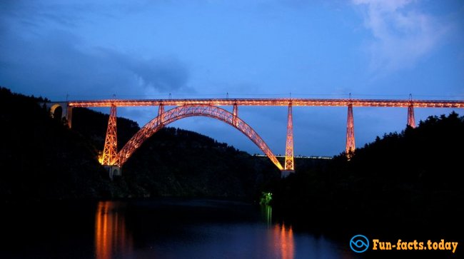
[[[176,128],[163,128],[124,166],[128,183],[143,195],[251,198],[280,177],[269,160],[256,159],[226,143]]]

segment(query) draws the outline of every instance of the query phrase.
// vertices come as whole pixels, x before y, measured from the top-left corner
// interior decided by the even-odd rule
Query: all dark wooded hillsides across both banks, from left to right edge
[[[350,161],[344,153],[331,161],[297,158],[296,173],[285,179],[266,158],[164,128],[110,181],[97,161],[108,115],[74,108],[69,129],[41,101],[0,88],[0,200],[241,198],[272,203],[295,222],[358,230],[454,229],[464,216],[464,118],[457,113],[376,138]],[[121,148],[139,128],[125,118],[117,123]]]

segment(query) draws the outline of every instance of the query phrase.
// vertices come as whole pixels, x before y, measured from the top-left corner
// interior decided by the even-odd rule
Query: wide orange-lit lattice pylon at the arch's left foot
[[[101,164],[104,166],[118,166],[119,157],[117,149],[118,136],[116,131],[116,106],[111,106]]]

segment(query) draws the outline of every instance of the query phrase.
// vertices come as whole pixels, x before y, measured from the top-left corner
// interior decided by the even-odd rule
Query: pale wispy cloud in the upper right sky
[[[364,25],[374,37],[367,47],[373,71],[411,68],[445,36],[446,26],[413,9],[413,3],[412,0],[353,0],[353,4],[363,9]]]

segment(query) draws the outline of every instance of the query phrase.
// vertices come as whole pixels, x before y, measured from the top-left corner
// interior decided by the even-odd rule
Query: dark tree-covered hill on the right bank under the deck
[[[350,161],[343,153],[324,168],[299,170],[276,186],[276,205],[328,225],[355,223],[358,231],[379,224],[457,230],[464,218],[463,133],[457,113],[431,116],[356,149]]]

